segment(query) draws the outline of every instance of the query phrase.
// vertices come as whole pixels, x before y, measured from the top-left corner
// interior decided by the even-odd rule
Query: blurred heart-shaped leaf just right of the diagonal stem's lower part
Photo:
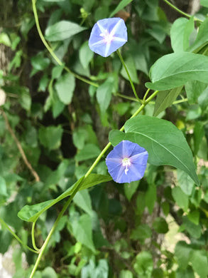
[[[92,252],[95,252],[92,240],[92,220],[89,215],[82,215],[79,220],[73,220],[72,230],[77,242],[81,242],[91,249]]]

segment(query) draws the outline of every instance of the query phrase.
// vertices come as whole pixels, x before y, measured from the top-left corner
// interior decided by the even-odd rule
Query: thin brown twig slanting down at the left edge
[[[19,142],[18,138],[16,137],[15,133],[13,132],[13,129],[11,128],[11,125],[9,123],[9,120],[7,118],[6,113],[4,112],[3,109],[0,109],[0,113],[1,113],[1,115],[3,115],[5,123],[6,123],[6,127],[9,130],[9,133],[11,134],[11,137],[15,141],[19,152],[21,153],[21,157],[23,158],[23,162],[25,163],[27,168],[31,171],[31,174],[33,175],[33,177],[35,177],[35,182],[39,182],[40,177],[38,176],[38,173],[33,169],[31,163],[29,163],[28,158],[26,157],[26,154],[25,154],[25,152],[24,152],[24,150],[21,146],[21,143]]]

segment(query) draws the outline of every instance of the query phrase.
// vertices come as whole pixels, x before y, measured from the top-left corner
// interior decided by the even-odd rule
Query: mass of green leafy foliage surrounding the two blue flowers
[[[116,184],[101,160],[34,277],[207,277],[208,2],[201,4],[195,17],[203,22],[180,14],[170,22],[156,0],[37,0],[54,59],[32,3],[3,0],[0,252],[14,248],[14,278],[29,277],[35,264],[31,228],[40,248],[102,148],[124,139],[148,150],[144,178]],[[94,23],[115,14],[126,20],[121,52],[139,98],[145,83],[160,91],[131,120],[139,103],[119,57],[97,56],[87,43]]]

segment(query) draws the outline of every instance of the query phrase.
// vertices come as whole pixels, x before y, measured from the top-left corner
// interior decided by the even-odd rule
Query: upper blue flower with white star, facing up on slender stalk
[[[126,25],[123,19],[101,19],[94,24],[89,37],[89,48],[107,57],[127,41]]]

